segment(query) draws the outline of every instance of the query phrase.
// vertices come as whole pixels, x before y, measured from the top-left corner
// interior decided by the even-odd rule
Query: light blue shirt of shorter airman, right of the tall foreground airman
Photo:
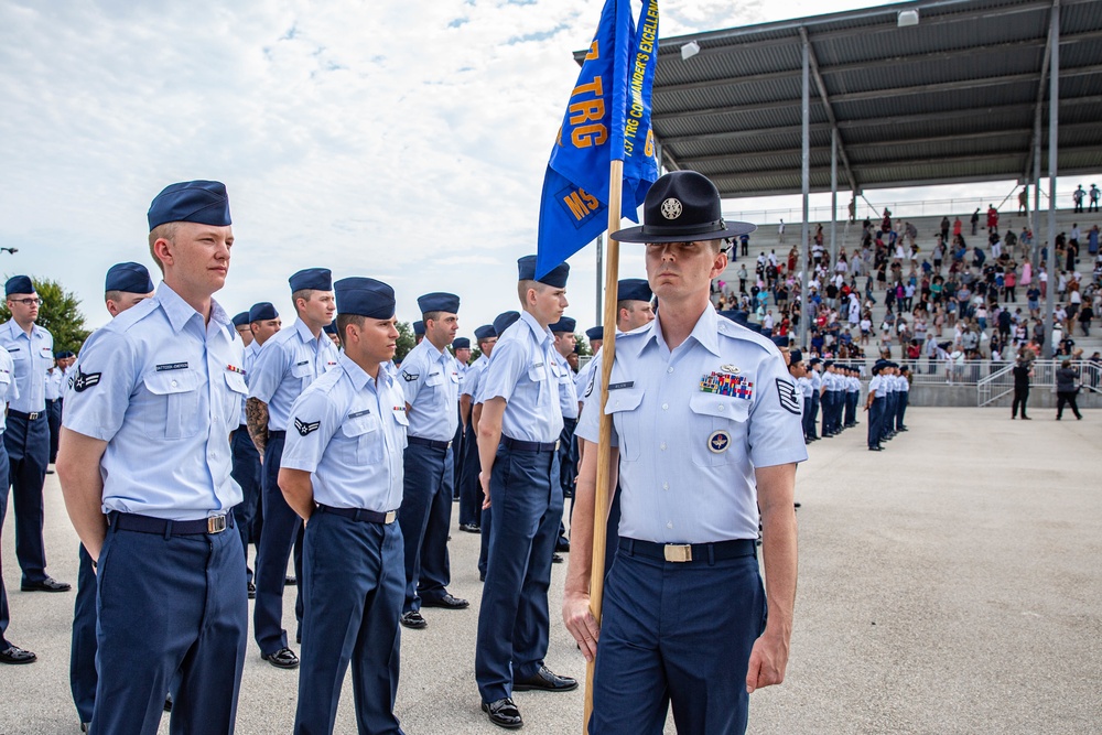
[[[402,504],[406,397],[388,370],[378,381],[341,355],[291,408],[281,467],[311,473],[314,501],[387,512]]]

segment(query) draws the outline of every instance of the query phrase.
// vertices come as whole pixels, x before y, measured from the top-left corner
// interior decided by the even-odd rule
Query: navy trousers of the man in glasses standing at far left
[[[24,583],[42,582],[46,579],[42,484],[50,463],[50,422],[45,412],[34,421],[9,414],[3,443],[8,450],[8,479],[15,509],[15,559],[23,570]]]

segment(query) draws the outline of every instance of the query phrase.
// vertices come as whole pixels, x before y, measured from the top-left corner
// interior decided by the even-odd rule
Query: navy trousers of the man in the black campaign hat
[[[628,543],[626,541],[622,543]],[[744,733],[746,670],[765,629],[753,555],[677,564],[622,548],[605,582],[590,733]]]

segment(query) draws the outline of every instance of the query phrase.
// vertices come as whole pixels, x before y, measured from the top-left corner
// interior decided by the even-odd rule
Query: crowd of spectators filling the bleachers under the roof
[[[1028,226],[1001,226],[994,206],[982,224],[985,231],[976,209],[968,226],[947,216],[934,231],[920,234],[885,209],[878,221],[866,218],[860,245],[850,252],[841,248],[834,260],[822,225],[814,227],[808,244],[809,358],[898,358],[918,372],[944,370],[953,381],[969,363],[1009,364],[1025,350],[1041,355],[1048,332],[1057,358],[1083,359],[1076,337],[1091,336],[1102,315],[1099,225],[1076,223],[1056,237],[1058,270],[1049,278],[1048,245],[1035,247]],[[766,336],[795,336],[801,320],[799,247],[750,257],[748,239],[731,244],[735,278],[715,283],[716,309],[742,313]],[[1056,310],[1046,329],[1049,288],[1056,289]],[[877,304],[883,309],[874,310]],[[1095,352],[1089,359],[1096,378],[1102,357]]]

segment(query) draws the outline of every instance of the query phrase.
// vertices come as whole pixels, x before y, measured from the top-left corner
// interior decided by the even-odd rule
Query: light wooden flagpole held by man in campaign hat
[[[608,400],[608,381],[612,379],[613,360],[616,359],[616,289],[619,281],[619,242],[611,236],[620,227],[620,198],[623,193],[624,161],[612,161],[608,166],[608,252],[605,266],[604,342],[601,346],[601,433],[597,443],[597,487],[593,498],[593,556],[590,562],[590,613],[601,625],[601,603],[605,592],[605,542],[608,528],[608,487],[612,454],[612,417],[605,413]],[[585,664],[585,714],[582,733],[588,732],[593,714],[593,674],[597,657]]]

